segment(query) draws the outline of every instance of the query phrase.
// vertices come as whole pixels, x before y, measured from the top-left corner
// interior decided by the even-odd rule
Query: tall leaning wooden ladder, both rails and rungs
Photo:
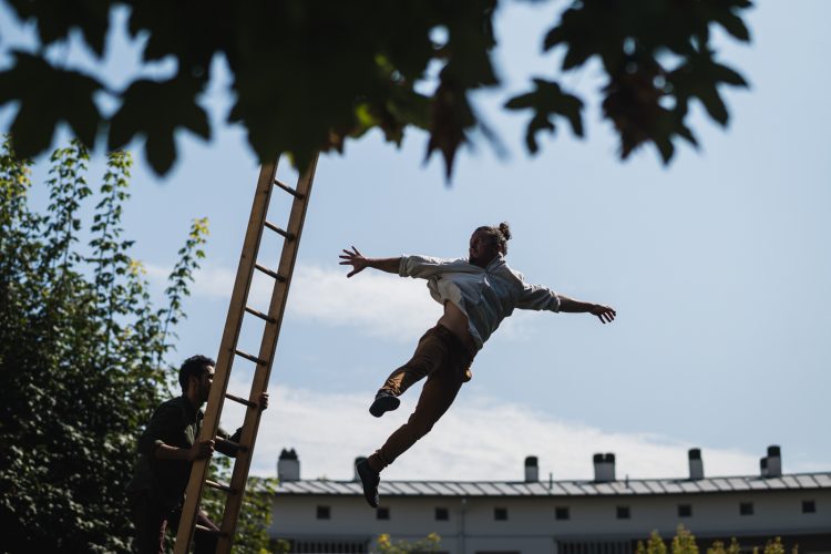
[[[230,296],[228,316],[225,320],[225,331],[223,332],[219,355],[216,357],[216,368],[214,381],[211,386],[207,407],[205,409],[205,419],[199,432],[199,441],[222,440],[216,437],[219,427],[219,417],[223,410],[223,402],[227,398],[235,402],[244,404],[246,409],[245,422],[239,443],[229,443],[229,447],[237,450],[237,456],[234,462],[234,473],[229,484],[215,483],[207,479],[208,464],[211,459],[197,460],[193,462],[191,470],[191,480],[187,483],[185,504],[182,509],[178,533],[176,535],[175,554],[186,554],[188,552],[191,540],[196,527],[196,514],[199,510],[202,492],[205,485],[224,491],[227,494],[225,511],[223,514],[222,525],[219,527],[217,553],[230,552],[234,541],[234,532],[237,525],[237,517],[243,504],[245,485],[248,480],[248,471],[254,454],[254,443],[257,438],[259,428],[260,409],[257,403],[261,392],[268,387],[268,377],[271,372],[274,353],[277,348],[277,339],[280,334],[280,324],[283,312],[286,308],[288,289],[291,284],[291,274],[294,273],[297,250],[300,244],[300,233],[302,232],[304,219],[306,218],[306,208],[309,203],[309,193],[317,166],[317,156],[309,164],[308,170],[299,177],[296,186],[289,185],[277,179],[277,163],[279,160],[260,167],[259,178],[257,181],[257,193],[254,197],[252,215],[248,219],[248,229],[245,234],[243,244],[243,254],[239,257],[239,267],[237,277],[234,281],[234,291]],[[289,214],[286,229],[278,227],[266,219],[268,206],[271,199],[271,192],[275,188],[285,192],[291,196],[291,211]],[[283,252],[277,270],[271,270],[257,263],[260,239],[265,229],[273,230],[283,236]],[[274,289],[269,302],[268,312],[263,314],[248,306],[248,293],[252,287],[254,271],[260,271],[274,279]],[[249,314],[265,321],[263,339],[257,356],[244,352],[237,348],[239,329],[243,325],[243,317]],[[228,380],[234,360],[245,358],[256,365],[254,371],[254,381],[248,399],[236,397],[227,392]],[[211,532],[207,529],[201,529],[203,532]]]

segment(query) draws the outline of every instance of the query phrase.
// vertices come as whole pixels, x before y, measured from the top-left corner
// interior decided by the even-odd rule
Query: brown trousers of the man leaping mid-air
[[[413,383],[427,377],[416,411],[387,442],[369,456],[369,466],[380,472],[424,437],[439,421],[462,383],[470,381],[473,353],[445,327],[437,325],[419,340],[410,361],[394,370],[381,387],[399,397]]]

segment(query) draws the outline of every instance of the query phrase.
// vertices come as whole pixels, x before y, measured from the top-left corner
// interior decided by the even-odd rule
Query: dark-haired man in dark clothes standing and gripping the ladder
[[[135,474],[127,485],[127,502],[140,554],[164,552],[164,532],[168,523],[174,530],[178,526],[193,462],[211,458],[214,449],[236,456],[236,449],[225,440],[197,440],[204,417],[201,408],[207,401],[215,365],[205,356],[185,360],[178,370],[182,396],[156,408],[138,439],[138,458]],[[268,407],[267,392],[260,394],[258,403],[260,410]],[[218,434],[230,442],[239,442],[240,432],[242,429],[237,429],[229,439],[222,429]],[[196,523],[219,531],[203,511],[197,513]],[[213,554],[216,534],[196,530],[194,543],[194,552]]]

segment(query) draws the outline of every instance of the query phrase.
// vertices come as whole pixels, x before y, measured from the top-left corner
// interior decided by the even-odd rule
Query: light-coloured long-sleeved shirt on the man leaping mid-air
[[[428,279],[435,301],[442,306],[453,302],[468,316],[468,329],[478,350],[514,308],[560,311],[555,291],[526,284],[521,273],[507,267],[501,254],[484,269],[464,258],[401,256],[398,274]]]

